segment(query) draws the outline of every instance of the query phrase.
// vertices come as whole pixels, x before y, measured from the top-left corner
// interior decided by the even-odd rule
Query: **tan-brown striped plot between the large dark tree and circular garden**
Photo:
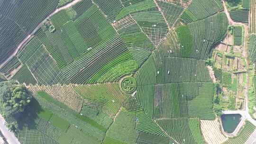
[[[39,91],[45,91],[46,95],[63,102],[68,107],[73,110],[80,112],[82,108],[83,100],[80,96],[73,90],[71,85],[30,85],[29,90],[36,94]]]

